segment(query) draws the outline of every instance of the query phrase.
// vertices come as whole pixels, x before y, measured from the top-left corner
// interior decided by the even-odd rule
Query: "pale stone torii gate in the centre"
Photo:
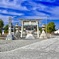
[[[39,38],[39,19],[21,19],[21,38],[23,37],[24,25],[36,26],[37,28],[37,38]]]

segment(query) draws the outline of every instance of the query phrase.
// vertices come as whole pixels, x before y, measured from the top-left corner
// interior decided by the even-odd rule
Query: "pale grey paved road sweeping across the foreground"
[[[59,37],[37,41],[7,52],[0,59],[59,59]]]

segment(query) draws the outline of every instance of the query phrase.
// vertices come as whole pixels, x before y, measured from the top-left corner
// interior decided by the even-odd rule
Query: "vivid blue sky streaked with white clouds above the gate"
[[[7,24],[10,16],[14,23],[25,16],[54,20],[58,27],[59,0],[0,0],[0,18]]]

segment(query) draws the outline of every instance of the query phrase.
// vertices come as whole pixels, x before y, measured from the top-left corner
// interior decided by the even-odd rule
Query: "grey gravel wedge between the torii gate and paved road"
[[[1,40],[0,41],[0,52],[10,51],[31,43],[41,41],[39,39],[35,40]]]

